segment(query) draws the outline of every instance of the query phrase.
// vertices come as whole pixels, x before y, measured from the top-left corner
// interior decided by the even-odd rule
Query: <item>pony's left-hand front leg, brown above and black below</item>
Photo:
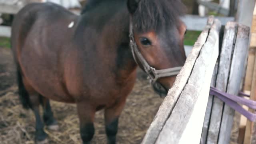
[[[83,144],[90,144],[94,135],[94,115],[95,110],[88,103],[77,103],[78,117],[80,120],[80,135]]]

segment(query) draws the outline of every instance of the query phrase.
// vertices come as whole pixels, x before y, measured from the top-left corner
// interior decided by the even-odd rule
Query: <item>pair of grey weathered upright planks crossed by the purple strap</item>
[[[225,26],[221,53],[212,76],[212,86],[222,92],[238,95],[248,53],[250,29],[248,26],[228,22]],[[234,110],[220,99],[209,96],[202,144],[229,144]]]

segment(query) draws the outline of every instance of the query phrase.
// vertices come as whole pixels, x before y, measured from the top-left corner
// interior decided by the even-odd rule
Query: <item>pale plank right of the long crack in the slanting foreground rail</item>
[[[210,83],[219,50],[221,23],[215,19],[207,41],[156,144],[199,144]]]

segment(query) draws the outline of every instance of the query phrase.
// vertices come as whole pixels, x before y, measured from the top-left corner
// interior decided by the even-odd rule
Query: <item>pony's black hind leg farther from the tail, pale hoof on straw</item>
[[[53,116],[52,108],[50,106],[50,100],[48,98],[45,98],[44,96],[40,96],[41,98],[41,104],[44,109],[44,115],[43,120],[44,124],[46,124],[46,127],[49,130],[58,130],[58,122]]]

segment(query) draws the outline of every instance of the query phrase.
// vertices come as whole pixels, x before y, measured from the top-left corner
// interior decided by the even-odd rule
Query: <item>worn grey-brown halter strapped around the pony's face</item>
[[[140,50],[138,49],[138,46],[134,40],[131,16],[130,16],[129,37],[130,37],[130,48],[132,50],[132,56],[137,64],[138,64],[138,62],[140,62],[140,64],[142,64],[144,71],[146,72],[146,74],[148,74],[148,76],[150,78],[151,84],[154,84],[156,82],[156,80],[158,80],[158,78],[168,77],[168,76],[176,76],[180,72],[182,66],[174,67],[174,68],[166,68],[166,69],[162,69],[162,70],[156,70],[156,68],[154,68],[148,64],[148,62],[145,60],[145,58],[140,53]]]

